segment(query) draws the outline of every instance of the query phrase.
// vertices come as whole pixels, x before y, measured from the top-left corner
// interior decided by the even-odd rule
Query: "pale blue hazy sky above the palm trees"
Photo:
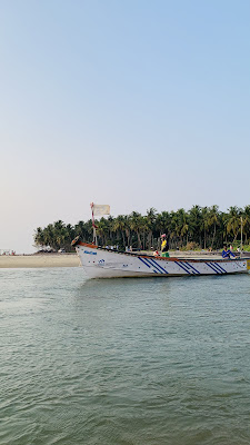
[[[0,0],[0,249],[37,227],[250,204],[249,0]]]

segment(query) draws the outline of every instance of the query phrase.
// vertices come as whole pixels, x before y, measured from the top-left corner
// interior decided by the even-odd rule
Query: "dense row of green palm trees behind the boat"
[[[250,240],[250,205],[244,208],[230,207],[220,211],[218,206],[193,206],[190,210],[158,212],[154,208],[146,215],[132,211],[130,215],[109,216],[97,221],[98,244],[118,246],[124,250],[150,250],[159,248],[160,237],[166,234],[170,249],[219,249],[223,244],[240,243],[241,226],[244,245]],[[80,236],[82,241],[92,243],[92,220],[79,221],[74,226],[62,220],[38,227],[34,231],[34,246],[73,251],[71,241]]]

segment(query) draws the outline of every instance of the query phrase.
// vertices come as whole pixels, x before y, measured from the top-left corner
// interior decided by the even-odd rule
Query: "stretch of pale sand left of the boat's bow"
[[[77,254],[0,256],[0,268],[78,267],[79,265]]]

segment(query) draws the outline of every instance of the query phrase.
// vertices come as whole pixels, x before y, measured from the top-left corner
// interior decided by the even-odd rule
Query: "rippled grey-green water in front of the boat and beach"
[[[250,275],[0,270],[0,444],[250,443]]]

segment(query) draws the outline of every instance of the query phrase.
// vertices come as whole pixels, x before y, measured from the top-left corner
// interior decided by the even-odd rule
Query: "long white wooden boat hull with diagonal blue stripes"
[[[76,247],[81,265],[90,278],[227,275],[242,274],[250,270],[250,258],[163,258],[160,256],[120,253],[93,244],[82,243],[79,238],[72,241],[72,246]]]

